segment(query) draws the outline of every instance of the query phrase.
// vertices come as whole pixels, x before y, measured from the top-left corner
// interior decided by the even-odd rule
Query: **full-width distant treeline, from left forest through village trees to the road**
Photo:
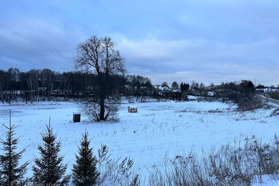
[[[169,98],[175,100],[188,100],[187,95],[208,96],[208,92],[214,92],[214,97],[223,101],[226,99],[239,102],[239,93],[254,93],[254,88],[265,88],[264,85],[253,85],[251,81],[242,80],[214,85],[210,83],[205,86],[203,83],[192,81],[188,83],[173,82],[171,87],[179,89],[179,92],[157,91],[152,85],[151,79],[140,75],[113,75],[110,76],[106,96],[126,96],[130,99],[135,96],[137,99],[152,97],[156,99]],[[161,87],[169,87],[163,82]],[[273,86],[274,87],[274,86]],[[194,89],[195,92],[189,90]],[[274,87],[275,88],[275,87]],[[276,87],[277,88],[277,87]],[[279,92],[268,92],[269,97],[279,99]],[[36,102],[36,101],[67,101],[68,99],[79,99],[99,95],[98,78],[93,74],[82,71],[60,72],[50,69],[31,69],[21,72],[18,68],[0,70],[0,101],[2,103]],[[212,95],[213,97],[213,95]]]

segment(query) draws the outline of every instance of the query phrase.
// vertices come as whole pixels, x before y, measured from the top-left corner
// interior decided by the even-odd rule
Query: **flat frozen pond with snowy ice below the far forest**
[[[137,106],[139,112],[137,116],[154,111],[174,111],[174,110],[206,110],[206,109],[223,109],[228,108],[228,104],[220,104],[218,102],[150,102],[150,103],[131,103],[121,104],[119,107],[119,115],[130,115],[127,112],[128,106]],[[71,120],[73,112],[78,112],[78,104],[61,104],[61,105],[15,105],[15,106],[0,106],[0,120],[9,118],[9,109],[13,121],[16,119],[41,120]],[[71,116],[67,116],[71,115]],[[81,119],[86,119],[82,116]]]

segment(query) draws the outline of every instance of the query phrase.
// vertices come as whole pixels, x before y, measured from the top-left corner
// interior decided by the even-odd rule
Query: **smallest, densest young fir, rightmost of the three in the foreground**
[[[96,169],[97,159],[88,140],[88,132],[85,130],[82,136],[81,146],[78,147],[78,155],[76,155],[76,164],[73,164],[72,168],[72,182],[74,185],[87,186],[96,182],[99,173]]]

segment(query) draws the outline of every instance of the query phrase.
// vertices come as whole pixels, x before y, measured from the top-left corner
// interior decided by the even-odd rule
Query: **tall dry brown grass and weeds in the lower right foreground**
[[[201,155],[191,152],[178,155],[161,164],[154,164],[149,172],[148,185],[224,186],[251,185],[262,182],[263,175],[277,179],[279,174],[279,140],[277,135],[269,143],[259,139],[240,137],[233,145],[213,147]]]

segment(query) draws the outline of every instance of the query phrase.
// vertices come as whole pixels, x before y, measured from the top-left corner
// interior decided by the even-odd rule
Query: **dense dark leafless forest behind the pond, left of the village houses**
[[[107,95],[115,95],[117,87],[124,87],[125,96],[147,96],[153,85],[147,77],[137,75],[114,75],[109,77]],[[123,89],[124,89],[123,88]],[[59,72],[50,69],[32,69],[21,72],[18,68],[0,70],[0,100],[35,102],[68,100],[94,96],[99,90],[98,78],[81,71]],[[116,94],[117,96],[117,94]]]

